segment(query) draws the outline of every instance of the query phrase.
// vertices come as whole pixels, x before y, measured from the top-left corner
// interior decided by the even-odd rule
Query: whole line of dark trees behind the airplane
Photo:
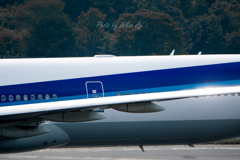
[[[0,0],[0,55],[236,54],[240,0]]]

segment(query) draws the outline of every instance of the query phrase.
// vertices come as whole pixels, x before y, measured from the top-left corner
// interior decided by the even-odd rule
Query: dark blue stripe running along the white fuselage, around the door
[[[112,94],[108,93],[169,87],[173,91],[179,90],[179,86],[200,87],[202,84],[213,82],[218,82],[221,86],[228,86],[229,84],[224,81],[233,80],[240,80],[240,62],[1,86],[0,95],[7,97],[13,95],[15,101],[16,95],[19,94],[22,102],[18,103],[24,103],[24,94],[27,94],[29,98],[31,94],[35,94],[36,98],[38,94],[43,96],[57,94],[58,100],[78,95],[79,98],[86,98],[85,83],[87,81],[101,81],[105,95],[110,96]],[[237,85],[239,81],[235,82]],[[156,90],[156,92],[158,91],[162,90]],[[5,105],[6,102],[1,102],[1,105]]]

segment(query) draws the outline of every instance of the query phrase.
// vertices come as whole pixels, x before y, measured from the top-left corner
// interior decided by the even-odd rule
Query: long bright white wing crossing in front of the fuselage
[[[114,108],[119,104],[146,103],[154,101],[167,101],[191,97],[202,97],[210,95],[238,94],[240,86],[213,87],[192,90],[180,90],[160,93],[122,95],[102,98],[68,100],[57,102],[46,102],[37,104],[26,104],[16,106],[0,107],[0,120],[24,119],[39,115],[54,114],[68,111],[91,110],[94,108]]]

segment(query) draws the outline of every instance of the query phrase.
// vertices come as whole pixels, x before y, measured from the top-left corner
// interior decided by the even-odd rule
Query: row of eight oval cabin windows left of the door
[[[56,94],[53,94],[52,95],[52,98],[53,98],[53,100],[57,100],[57,95]],[[35,99],[36,99],[36,97],[35,97],[35,95],[34,94],[31,94],[31,96],[29,97],[29,99],[31,99],[32,101],[34,101]],[[39,94],[38,95],[38,97],[37,97],[37,99],[39,100],[39,101],[41,101],[42,99],[43,99],[43,96],[41,95],[41,94]],[[46,94],[45,95],[45,99],[46,100],[49,100],[50,99],[50,95],[49,94]],[[7,100],[7,97],[5,96],[5,95],[2,95],[1,96],[1,100],[2,100],[2,102],[5,102],[6,100]],[[8,100],[10,101],[10,102],[12,102],[13,100],[14,100],[14,97],[12,96],[12,95],[9,95],[8,96]],[[24,101],[27,101],[28,100],[28,95],[23,95],[23,100]],[[18,95],[16,95],[16,101],[21,101],[21,96],[18,94]]]

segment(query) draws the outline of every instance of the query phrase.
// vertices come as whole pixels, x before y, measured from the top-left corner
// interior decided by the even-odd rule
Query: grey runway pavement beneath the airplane
[[[2,154],[0,160],[239,160],[240,145],[196,145],[47,149]]]

